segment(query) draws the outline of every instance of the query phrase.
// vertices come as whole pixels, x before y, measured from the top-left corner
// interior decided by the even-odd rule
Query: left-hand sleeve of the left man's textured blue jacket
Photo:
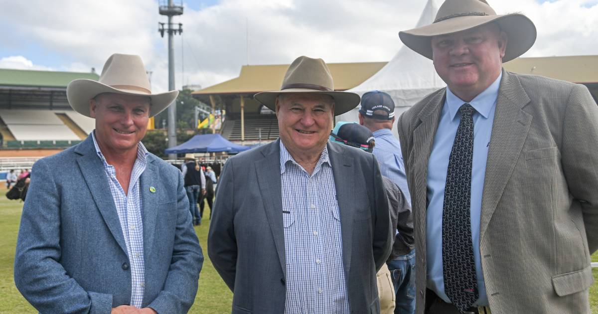
[[[112,295],[85,291],[60,264],[60,192],[45,160],[33,165],[14,258],[14,283],[41,313],[109,313]]]

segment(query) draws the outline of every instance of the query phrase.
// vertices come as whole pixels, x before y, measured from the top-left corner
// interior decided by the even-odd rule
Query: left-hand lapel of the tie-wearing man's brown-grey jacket
[[[419,212],[414,212],[417,221],[419,221],[419,234],[426,234],[426,195],[427,195],[427,179],[428,179],[428,160],[432,152],[432,145],[434,144],[434,135],[438,129],[438,120],[444,104],[444,97],[446,91],[438,93],[437,96],[431,100],[428,106],[422,109],[417,115],[419,124],[413,130],[413,154],[418,156],[410,156],[413,160],[414,167],[414,185],[416,199],[411,200],[412,208],[420,209]]]

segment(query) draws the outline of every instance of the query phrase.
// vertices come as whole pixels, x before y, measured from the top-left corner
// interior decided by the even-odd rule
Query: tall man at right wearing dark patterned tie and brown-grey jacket
[[[432,25],[399,35],[447,83],[398,123],[416,312],[590,313],[598,107],[587,88],[504,71],[536,29],[486,1],[447,0]]]

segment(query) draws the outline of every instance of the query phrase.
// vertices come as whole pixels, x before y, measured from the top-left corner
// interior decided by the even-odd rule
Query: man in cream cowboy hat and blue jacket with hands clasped
[[[66,94],[96,129],[33,165],[17,288],[41,313],[187,313],[203,255],[183,179],[140,142],[178,92],[152,93],[141,57],[113,54]]]

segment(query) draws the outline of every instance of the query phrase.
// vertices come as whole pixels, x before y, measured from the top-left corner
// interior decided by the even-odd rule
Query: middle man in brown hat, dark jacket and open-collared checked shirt
[[[335,92],[322,59],[298,57],[255,99],[276,111],[280,139],[228,159],[208,235],[233,313],[379,313],[392,243],[382,176],[373,155],[328,142],[359,96]]]

